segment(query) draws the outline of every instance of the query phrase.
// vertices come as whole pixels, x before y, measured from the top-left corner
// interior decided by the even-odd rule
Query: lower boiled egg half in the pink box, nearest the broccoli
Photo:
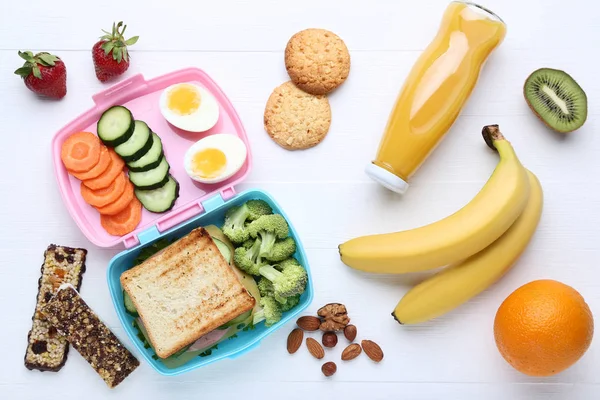
[[[236,135],[220,133],[198,140],[186,151],[185,172],[195,181],[217,183],[231,178],[244,165],[246,145]]]

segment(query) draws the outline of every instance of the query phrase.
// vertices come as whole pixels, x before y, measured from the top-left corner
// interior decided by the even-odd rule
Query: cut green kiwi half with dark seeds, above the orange
[[[567,133],[580,128],[587,118],[587,96],[566,72],[540,68],[523,88],[529,108],[548,127]]]

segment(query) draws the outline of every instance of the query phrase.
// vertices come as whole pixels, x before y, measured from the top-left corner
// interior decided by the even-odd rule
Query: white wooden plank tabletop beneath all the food
[[[412,180],[403,197],[363,173],[374,155],[404,77],[433,37],[447,0],[29,0],[0,2],[0,399],[598,399],[600,348],[566,372],[545,379],[514,371],[499,355],[492,324],[501,301],[539,278],[572,285],[600,315],[600,6],[586,0],[488,0],[508,24],[505,42],[486,65],[471,100],[447,139]],[[114,20],[131,35],[132,65],[123,77],[146,78],[196,66],[230,96],[248,131],[254,169],[239,190],[270,192],[296,225],[314,274],[308,311],[330,301],[347,305],[359,335],[381,344],[385,360],[338,362],[326,379],[321,362],[303,348],[285,351],[292,323],[260,348],[178,377],[163,377],[142,361],[109,391],[71,350],[59,373],[23,366],[42,253],[50,243],[89,250],[82,294],[132,348],[110,302],[108,261],[119,250],[100,249],[80,233],[61,201],[52,172],[50,140],[88,109],[106,88],[94,75],[91,47]],[[352,55],[346,84],[330,101],[327,139],[305,152],[288,152],[265,134],[262,115],[271,90],[287,79],[283,49],[306,27],[338,33]],[[13,70],[17,50],[62,57],[68,94],[40,101]],[[522,85],[539,67],[564,69],[589,98],[586,125],[568,138],[545,129],[528,110]],[[337,245],[351,237],[416,227],[466,204],[491,173],[496,156],[481,127],[498,123],[524,164],[540,178],[545,209],[537,234],[501,282],[455,312],[416,327],[399,326],[392,308],[425,275],[369,276],[345,267]],[[343,341],[340,341],[343,342]],[[339,360],[343,346],[328,355]]]

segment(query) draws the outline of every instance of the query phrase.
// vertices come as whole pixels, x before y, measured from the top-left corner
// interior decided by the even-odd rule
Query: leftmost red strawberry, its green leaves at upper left
[[[62,99],[67,94],[67,68],[55,55],[42,52],[33,55],[30,51],[19,56],[25,64],[15,71],[25,81],[25,86],[34,93],[54,99]]]

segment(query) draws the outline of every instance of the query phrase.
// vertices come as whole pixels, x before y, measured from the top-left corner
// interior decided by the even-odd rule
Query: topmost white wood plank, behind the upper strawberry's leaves
[[[277,0],[248,2],[226,0],[105,0],[94,3],[3,1],[0,4],[0,48],[56,47],[90,49],[115,18],[128,23],[131,35],[140,35],[136,48],[146,51],[215,50],[278,51],[296,31],[327,27],[356,51],[422,50],[435,34],[448,1],[408,0]],[[510,47],[545,49],[550,54],[565,48],[581,51],[579,58],[593,59],[585,50],[599,44],[594,8],[585,0],[502,1],[485,6],[500,15],[509,30]],[[592,7],[592,8],[590,8]],[[14,16],[23,16],[15,20]],[[19,30],[14,29],[20,22]],[[554,25],[552,23],[554,22]],[[560,29],[556,29],[560,26]],[[43,29],[39,29],[43,27]],[[20,32],[27,32],[20,35]],[[22,39],[16,42],[15,37]],[[556,54],[557,58],[562,58]],[[566,58],[563,58],[566,59]]]

